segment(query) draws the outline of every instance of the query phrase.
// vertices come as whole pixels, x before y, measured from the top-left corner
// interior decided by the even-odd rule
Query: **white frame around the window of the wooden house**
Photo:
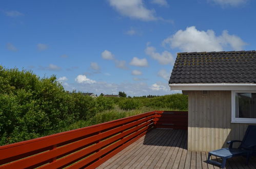
[[[231,91],[231,122],[232,123],[256,123],[256,118],[235,117],[235,93],[256,93],[256,91]]]

